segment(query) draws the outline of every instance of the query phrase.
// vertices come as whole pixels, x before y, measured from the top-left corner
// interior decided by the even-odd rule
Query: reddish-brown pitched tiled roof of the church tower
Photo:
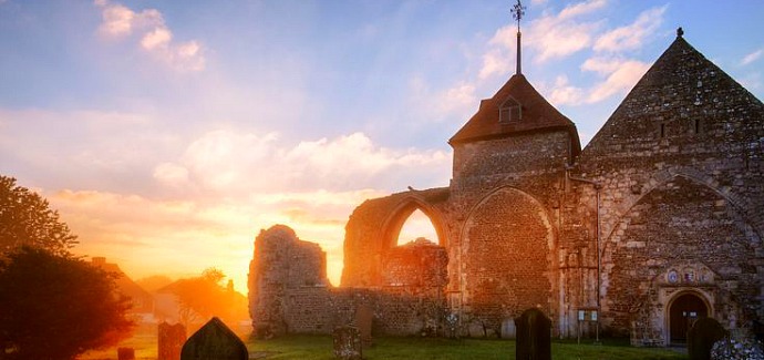
[[[499,122],[499,106],[507,99],[522,105],[519,121]],[[450,144],[500,138],[528,132],[567,130],[574,142],[574,154],[581,148],[576,125],[539,94],[523,74],[513,75],[491,99],[481,101],[481,107],[469,121],[451,137]]]

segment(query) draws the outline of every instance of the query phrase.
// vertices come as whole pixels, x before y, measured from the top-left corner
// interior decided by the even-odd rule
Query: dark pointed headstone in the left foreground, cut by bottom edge
[[[196,331],[180,350],[180,360],[247,360],[249,352],[241,339],[218,318]]]

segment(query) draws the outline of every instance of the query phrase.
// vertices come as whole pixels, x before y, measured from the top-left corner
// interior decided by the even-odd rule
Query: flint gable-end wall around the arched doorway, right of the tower
[[[722,323],[761,319],[764,106],[679,38],[584,150],[601,184],[602,311],[634,343],[667,343],[667,291]],[[708,266],[713,285],[661,274]]]

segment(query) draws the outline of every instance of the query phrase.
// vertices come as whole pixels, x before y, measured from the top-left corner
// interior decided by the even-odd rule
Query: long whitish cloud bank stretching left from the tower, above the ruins
[[[405,184],[392,181],[405,173],[411,179],[438,174],[447,182],[448,154],[415,148],[376,146],[363,133],[302,141],[293,146],[264,135],[211,131],[193,141],[177,162],[157,164],[154,178],[172,187],[211,192],[338,189]]]

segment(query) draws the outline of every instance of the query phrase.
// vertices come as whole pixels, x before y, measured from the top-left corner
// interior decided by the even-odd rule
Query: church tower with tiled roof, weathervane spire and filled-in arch
[[[448,141],[451,202],[462,214],[450,244],[452,310],[498,329],[528,308],[559,315],[559,197],[580,153],[576,125],[517,70]]]

